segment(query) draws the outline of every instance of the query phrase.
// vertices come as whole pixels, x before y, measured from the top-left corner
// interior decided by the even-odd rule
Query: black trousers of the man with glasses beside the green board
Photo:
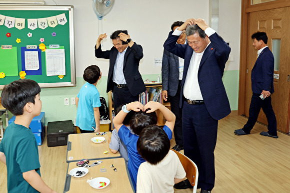
[[[139,100],[139,95],[133,96],[128,88],[118,88],[116,85],[114,85],[112,92],[113,92],[114,111],[120,105]]]

